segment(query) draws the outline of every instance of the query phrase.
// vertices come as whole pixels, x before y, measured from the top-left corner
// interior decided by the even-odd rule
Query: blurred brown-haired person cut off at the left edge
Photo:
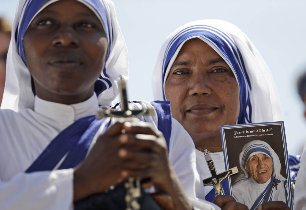
[[[5,84],[6,57],[11,39],[11,26],[0,17],[0,105]]]

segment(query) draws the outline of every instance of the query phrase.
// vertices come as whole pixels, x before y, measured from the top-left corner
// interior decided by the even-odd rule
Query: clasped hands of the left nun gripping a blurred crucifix
[[[172,197],[174,209],[192,209],[169,162],[162,133],[146,122],[115,123],[98,138],[74,171],[73,200],[103,193],[128,177],[150,178],[156,189]]]

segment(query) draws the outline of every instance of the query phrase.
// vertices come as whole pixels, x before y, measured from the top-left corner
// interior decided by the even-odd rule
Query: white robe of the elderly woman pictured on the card
[[[271,178],[264,184],[258,184],[252,176],[248,179],[241,180],[233,185],[233,197],[237,202],[246,205],[250,209],[270,182]],[[286,184],[286,190],[288,191],[288,183]],[[284,201],[286,203],[283,181],[278,183],[277,190],[273,190],[271,201]]]

